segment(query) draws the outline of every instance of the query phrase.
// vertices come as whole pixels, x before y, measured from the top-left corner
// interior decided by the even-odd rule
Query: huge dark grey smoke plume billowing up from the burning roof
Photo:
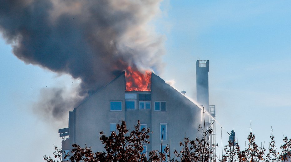
[[[13,54],[27,64],[80,78],[79,97],[128,66],[161,69],[164,39],[149,24],[160,13],[158,0],[0,0],[0,4],[0,31]],[[60,118],[57,109],[68,107],[70,101],[50,100],[58,103],[51,107],[52,116]]]

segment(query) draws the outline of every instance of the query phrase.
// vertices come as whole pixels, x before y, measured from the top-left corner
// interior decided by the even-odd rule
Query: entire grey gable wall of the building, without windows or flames
[[[135,110],[126,110],[125,93],[137,94]],[[138,93],[151,93],[150,110],[139,109]],[[121,101],[122,111],[110,111],[110,101]],[[166,102],[165,112],[155,111],[155,102],[160,101]],[[167,124],[167,139],[163,141],[163,145],[169,144],[171,139],[171,150],[180,150],[179,142],[183,141],[185,136],[195,139],[198,135],[198,125],[201,123],[201,109],[154,73],[151,77],[151,92],[125,92],[123,73],[91,95],[75,108],[74,112],[74,134],[70,133],[70,138],[81,147],[85,144],[92,146],[95,152],[104,150],[99,133],[103,130],[109,136],[109,123],[125,120],[130,130],[134,129],[137,120],[140,120],[141,124],[147,124],[147,128],[153,132],[150,134],[150,145],[147,145],[148,151],[160,150],[160,123]]]

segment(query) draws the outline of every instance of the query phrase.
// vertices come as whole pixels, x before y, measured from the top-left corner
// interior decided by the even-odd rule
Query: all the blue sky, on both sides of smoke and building
[[[152,22],[166,39],[159,75],[174,79],[177,89],[195,99],[195,62],[210,60],[210,104],[216,105],[218,122],[228,132],[234,128],[242,144],[250,121],[259,144],[268,145],[272,126],[279,146],[283,133],[291,136],[290,8],[288,1],[162,2],[161,15]],[[0,49],[0,157],[41,161],[52,154],[53,144],[61,146],[60,127],[44,122],[31,107],[41,89],[69,89],[74,79],[25,64],[2,38]],[[218,124],[216,133],[221,145]],[[223,143],[227,140],[222,130]]]

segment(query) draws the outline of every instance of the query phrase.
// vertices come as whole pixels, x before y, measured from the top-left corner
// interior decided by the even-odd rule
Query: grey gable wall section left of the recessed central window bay
[[[100,131],[109,136],[109,123],[118,123],[125,115],[125,77],[124,73],[91,95],[86,102],[76,108],[77,144],[92,146],[92,150],[104,150],[99,137]],[[121,101],[122,111],[110,111],[110,101]]]

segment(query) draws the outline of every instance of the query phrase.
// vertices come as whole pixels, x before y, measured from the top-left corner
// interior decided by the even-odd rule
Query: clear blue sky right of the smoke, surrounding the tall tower
[[[252,121],[265,145],[272,126],[279,145],[282,133],[291,133],[290,3],[183,2],[169,2],[163,78],[174,77],[175,86],[195,98],[195,61],[210,60],[210,104],[219,123],[244,143]],[[221,145],[219,125],[216,133]],[[228,140],[224,130],[222,137]]]

